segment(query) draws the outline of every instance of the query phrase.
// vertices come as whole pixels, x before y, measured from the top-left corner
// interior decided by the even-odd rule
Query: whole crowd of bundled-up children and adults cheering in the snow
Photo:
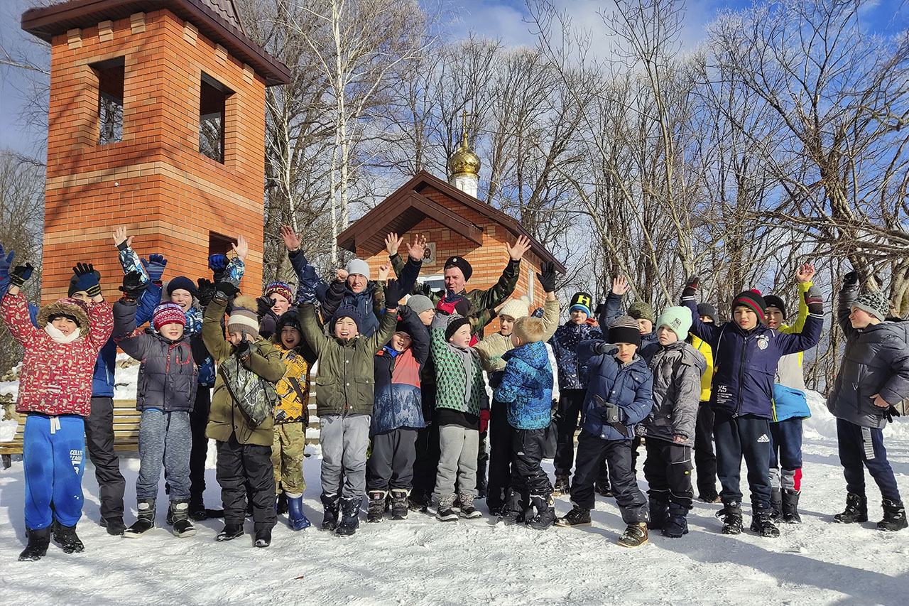
[[[599,326],[594,300],[584,292],[571,299],[569,319],[559,326],[552,264],[536,274],[544,308],[531,314],[527,300],[509,298],[529,248],[526,238],[506,245],[510,260],[494,287],[468,290],[473,268],[452,257],[445,262],[445,289],[433,293],[416,284],[424,237],[406,245],[405,262],[397,254],[404,239],[389,235],[389,262],[375,281],[361,259],[325,281],[294,231],[283,227],[281,236],[296,292],[274,282],[255,298],[240,294],[243,237],[233,258],[209,258],[212,279],[165,282],[167,260],[139,258],[132,237],[119,228],[114,242],[124,278],[113,309],[101,295],[98,272],[81,263],[67,298],[30,309],[20,288],[32,268],[12,267],[13,253],[0,248],[0,309],[25,348],[17,410],[27,415],[28,542],[20,560],[45,555],[52,533],[65,551],[83,550],[75,525],[86,435],[98,472],[101,523],[110,534],[138,538],[155,528],[162,468],[166,519],[177,537],[193,536],[193,521],[213,516],[225,519],[219,541],[243,535],[251,516],[256,547],[270,544],[278,514],[287,514],[292,530],[308,527],[302,466],[316,362],[322,530],[353,534],[364,496],[366,520],[380,522],[388,511],[402,520],[409,510],[427,510],[429,495],[441,521],[482,517],[475,501],[485,496],[490,513],[505,524],[589,526],[599,491],[614,496],[621,510],[626,528],[619,544],[635,547],[647,542],[648,530],[671,538],[688,532],[696,467],[700,498],[722,501],[722,531],[736,534],[743,530],[743,458],[751,530],[774,537],[776,520],[800,521],[802,419],[810,415],[801,352],[818,343],[823,327],[810,265],[796,272],[799,312],[791,325],[784,301],[756,290],[739,293],[731,321],[720,324],[715,308],[697,304],[692,277],[681,305],[656,318],[641,302],[622,315],[628,286],[616,278]],[[388,279],[390,268],[398,279]],[[848,491],[846,510],[835,520],[867,520],[864,466],[884,497],[878,528],[901,530],[905,511],[881,429],[893,405],[909,397],[909,328],[888,319],[880,293],[859,294],[860,281],[854,272],[844,278],[837,317],[846,349],[828,397]],[[499,331],[481,339],[495,317]],[[150,326],[140,328],[145,322]],[[558,371],[555,407],[546,342]],[[110,471],[112,457],[116,467],[112,432],[109,439],[91,439],[85,424],[95,406],[112,422],[113,392],[95,398],[94,390],[99,367],[110,369],[113,384],[114,345],[141,361],[138,514],[128,527],[123,479]],[[557,433],[554,485],[542,468],[551,426]],[[206,509],[202,498],[209,439],[217,449],[223,510]],[[635,475],[641,439],[646,497]],[[573,507],[556,518],[553,497],[563,493]]]

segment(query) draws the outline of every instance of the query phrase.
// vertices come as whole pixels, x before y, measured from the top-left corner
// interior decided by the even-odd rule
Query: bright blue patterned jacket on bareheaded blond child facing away
[[[549,427],[553,409],[553,367],[543,341],[506,351],[505,369],[493,398],[508,403],[508,424],[514,429]]]

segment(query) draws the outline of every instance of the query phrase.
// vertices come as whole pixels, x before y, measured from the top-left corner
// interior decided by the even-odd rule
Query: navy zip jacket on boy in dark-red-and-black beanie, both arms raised
[[[786,335],[760,324],[747,331],[734,322],[704,324],[694,298],[684,298],[682,304],[691,309],[691,332],[704,339],[714,352],[710,405],[736,417],[773,419],[776,365],[786,354],[817,345],[824,316],[809,314],[801,333]]]

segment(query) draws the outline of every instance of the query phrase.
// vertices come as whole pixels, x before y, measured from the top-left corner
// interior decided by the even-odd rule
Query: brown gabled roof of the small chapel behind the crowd
[[[426,187],[433,187],[445,196],[454,198],[482,216],[489,218],[498,225],[507,229],[514,237],[525,236],[530,238],[531,250],[544,262],[552,262],[555,268],[564,274],[565,268],[558,259],[553,257],[546,248],[537,242],[520,223],[513,217],[505,215],[501,210],[481,202],[473,196],[449,185],[439,177],[430,175],[425,170],[420,171],[414,178],[398,187],[394,193],[386,197],[378,206],[370,210],[363,217],[358,218],[353,225],[338,234],[339,247],[356,252],[356,248],[363,248],[371,255],[377,254],[385,247],[385,236],[389,232],[405,234],[425,217],[434,219],[437,223],[449,227],[455,233],[466,237],[477,246],[483,243],[483,228],[474,225],[464,217],[445,208],[421,192]],[[444,253],[444,251],[441,251]]]

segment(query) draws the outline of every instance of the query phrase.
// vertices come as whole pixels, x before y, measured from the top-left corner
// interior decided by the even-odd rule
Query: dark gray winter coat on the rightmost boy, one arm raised
[[[827,409],[837,419],[861,427],[881,429],[887,424],[886,409],[874,406],[872,396],[896,404],[909,397],[909,322],[882,322],[853,328],[849,312],[858,296],[855,289],[840,293],[836,311],[846,336],[843,362]]]

